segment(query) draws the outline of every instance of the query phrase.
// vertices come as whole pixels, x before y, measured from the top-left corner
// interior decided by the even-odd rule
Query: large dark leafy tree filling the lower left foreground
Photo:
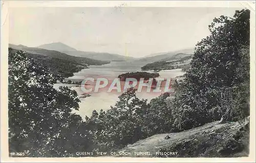
[[[72,113],[79,107],[76,91],[54,89],[53,84],[62,78],[36,65],[26,52],[9,49],[8,63],[10,152],[57,157],[87,149],[90,135],[81,130],[81,118]]]

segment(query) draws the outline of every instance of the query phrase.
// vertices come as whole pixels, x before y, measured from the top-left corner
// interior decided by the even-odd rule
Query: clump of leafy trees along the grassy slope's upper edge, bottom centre
[[[150,104],[139,100],[135,89],[130,88],[119,96],[119,101],[110,110],[96,110],[86,118],[86,128],[94,137],[95,151],[115,151],[140,139],[172,130],[172,111],[167,97],[162,94]]]

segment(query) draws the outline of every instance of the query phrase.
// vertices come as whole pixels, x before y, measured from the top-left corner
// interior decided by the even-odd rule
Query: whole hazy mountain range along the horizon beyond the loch
[[[14,45],[9,44],[10,47],[17,49],[17,50],[24,50],[30,53],[39,53],[39,54],[46,54],[46,50],[48,53],[52,54],[51,51],[57,51],[61,55],[66,54],[74,57],[82,57],[88,58],[92,60],[98,60],[103,62],[110,62],[110,61],[142,61],[142,62],[157,62],[157,61],[172,61],[175,59],[180,59],[182,57],[191,56],[194,54],[194,48],[183,49],[178,51],[170,51],[170,52],[161,52],[161,53],[154,53],[145,57],[141,58],[133,58],[122,56],[119,54],[111,54],[111,53],[101,53],[101,52],[83,52],[78,51],[75,48],[72,48],[69,45],[66,45],[61,42],[53,42],[39,45],[35,48],[29,48],[28,46],[24,45]],[[49,54],[48,54],[49,55]]]

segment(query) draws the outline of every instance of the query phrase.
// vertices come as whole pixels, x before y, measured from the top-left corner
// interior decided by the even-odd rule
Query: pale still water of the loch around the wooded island
[[[125,61],[125,62],[111,62],[109,64],[104,65],[91,65],[88,69],[82,69],[78,73],[74,73],[73,77],[69,77],[67,80],[71,80],[73,82],[81,81],[85,78],[107,78],[112,81],[114,78],[117,78],[118,75],[127,73],[127,72],[140,72],[141,67],[148,62],[137,62],[137,61]],[[146,71],[149,73],[153,73],[153,71]],[[160,78],[175,78],[176,76],[181,76],[184,72],[181,72],[181,69],[172,69],[166,71],[158,72],[160,74]],[[55,84],[55,87],[63,85],[61,83]],[[72,87],[72,89],[76,90],[78,96],[82,95],[84,92],[80,89],[80,87]],[[161,93],[153,93],[153,92],[137,92],[137,96],[140,99],[151,99],[159,96]],[[118,101],[118,96],[121,95],[121,92],[91,92],[90,97],[81,98],[81,102],[79,103],[79,111],[75,112],[81,115],[84,118],[86,115],[88,117],[91,116],[93,110],[99,111],[100,109],[107,110],[110,109],[110,106],[114,106],[116,101]]]

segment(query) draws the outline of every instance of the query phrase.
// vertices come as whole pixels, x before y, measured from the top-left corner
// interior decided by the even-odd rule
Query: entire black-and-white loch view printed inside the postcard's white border
[[[250,10],[9,8],[10,157],[246,157]]]

